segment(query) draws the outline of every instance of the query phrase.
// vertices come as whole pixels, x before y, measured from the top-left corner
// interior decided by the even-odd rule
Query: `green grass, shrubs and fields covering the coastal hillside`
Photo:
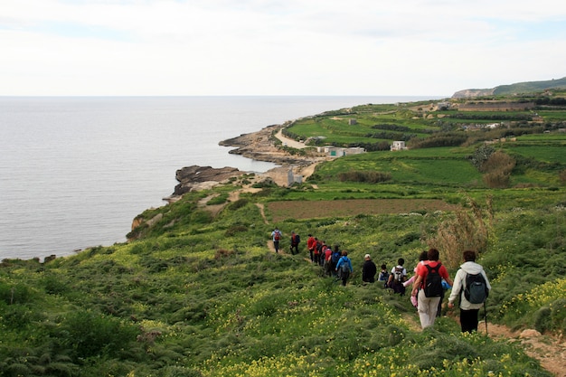
[[[493,286],[490,322],[566,330],[566,134],[558,131],[566,118],[472,132],[443,129],[432,107],[363,105],[288,131],[363,144],[372,129],[395,125],[387,132],[425,140],[459,133],[462,145],[345,156],[290,188],[246,175],[141,213],[130,233],[137,240],[48,263],[4,260],[0,376],[551,376],[520,344],[460,334],[458,314],[446,309],[421,331],[408,297],[362,284],[367,252],[390,268],[402,257],[412,269],[420,250],[434,246],[454,276],[461,252],[474,249]],[[357,125],[330,119],[342,117]],[[514,140],[482,142],[515,130]],[[260,190],[231,202],[242,184]],[[205,198],[222,211],[212,214]],[[407,208],[430,199],[455,209],[375,213],[352,206],[359,199]],[[270,206],[296,201],[307,215]],[[341,208],[348,215],[317,216],[321,203],[351,206]],[[302,254],[269,250],[276,225],[283,250],[290,231],[303,236]],[[349,251],[347,287],[305,260],[307,233]]]

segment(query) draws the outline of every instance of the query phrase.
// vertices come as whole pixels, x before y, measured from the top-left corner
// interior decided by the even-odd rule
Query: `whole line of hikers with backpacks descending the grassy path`
[[[275,252],[279,251],[279,241],[282,233],[277,228],[271,232]],[[291,232],[290,252],[297,254],[300,237]],[[352,260],[348,252],[340,250],[339,245],[334,248],[327,245],[325,240],[318,240],[308,234],[307,250],[310,261],[324,268],[325,276],[342,280],[345,286],[348,278],[354,272]],[[424,329],[434,325],[435,319],[441,314],[441,306],[445,294],[448,296],[448,308],[453,308],[459,299],[460,326],[462,332],[477,331],[478,315],[481,306],[486,305],[486,298],[491,285],[483,267],[476,263],[476,251],[466,250],[462,255],[462,263],[454,280],[448,275],[448,269],[439,260],[439,250],[431,248],[420,252],[419,262],[413,269],[414,275],[409,278],[407,269],[403,266],[405,260],[400,258],[391,271],[385,264],[377,273],[377,266],[370,254],[365,254],[362,267],[363,284],[372,284],[377,281],[382,287],[391,289],[394,293],[404,296],[407,287],[410,287],[410,302],[417,308],[420,325]]]

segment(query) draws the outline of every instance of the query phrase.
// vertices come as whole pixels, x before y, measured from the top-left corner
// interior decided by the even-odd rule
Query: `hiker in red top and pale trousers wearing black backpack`
[[[427,259],[417,265],[417,279],[412,285],[411,296],[417,297],[420,326],[424,329],[434,325],[442,295],[442,278],[450,286],[452,280],[448,270],[439,262],[439,250],[429,249]]]

